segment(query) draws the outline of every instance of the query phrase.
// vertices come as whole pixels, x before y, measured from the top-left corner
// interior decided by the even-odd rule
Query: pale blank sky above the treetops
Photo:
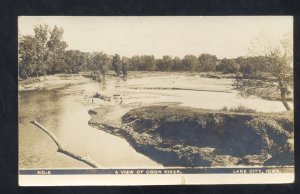
[[[67,49],[121,56],[184,57],[202,53],[218,58],[249,55],[251,42],[264,35],[276,42],[293,32],[292,16],[21,16],[20,35],[39,24],[64,29]]]

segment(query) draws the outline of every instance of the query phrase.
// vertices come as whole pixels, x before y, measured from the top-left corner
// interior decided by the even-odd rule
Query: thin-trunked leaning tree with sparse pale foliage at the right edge
[[[284,107],[291,110],[286,97],[293,87],[292,35],[286,35],[274,46],[267,43],[266,40],[259,40],[253,44],[255,51],[259,51],[258,53],[266,58],[266,71],[241,72],[235,80],[234,87],[242,95],[278,94]]]

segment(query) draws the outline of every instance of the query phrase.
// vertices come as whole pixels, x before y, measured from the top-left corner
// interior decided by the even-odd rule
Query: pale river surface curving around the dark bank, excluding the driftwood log
[[[89,81],[64,89],[19,92],[19,167],[88,167],[56,152],[57,147],[49,136],[29,123],[33,118],[51,130],[65,147],[78,154],[89,155],[104,168],[161,166],[137,153],[124,139],[88,126],[88,110],[104,103],[101,100],[92,103],[86,97],[96,91],[105,95],[121,95],[123,103],[142,106],[179,102],[183,106],[208,109],[244,105],[263,112],[284,111],[282,103],[278,101],[242,98],[231,85],[230,79],[171,75],[127,81],[108,80],[105,84]],[[118,100],[111,103],[118,104]]]

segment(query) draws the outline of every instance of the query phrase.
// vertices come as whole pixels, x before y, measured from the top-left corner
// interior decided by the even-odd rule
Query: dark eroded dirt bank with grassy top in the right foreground
[[[292,112],[245,114],[175,105],[130,109],[99,107],[90,112],[89,124],[125,138],[165,166],[293,165]]]

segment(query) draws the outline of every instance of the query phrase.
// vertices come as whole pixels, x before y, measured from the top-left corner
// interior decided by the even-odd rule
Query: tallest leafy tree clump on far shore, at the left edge
[[[39,76],[61,72],[67,47],[62,41],[63,29],[55,26],[49,31],[47,25],[34,27],[34,35],[19,39],[19,75]]]

